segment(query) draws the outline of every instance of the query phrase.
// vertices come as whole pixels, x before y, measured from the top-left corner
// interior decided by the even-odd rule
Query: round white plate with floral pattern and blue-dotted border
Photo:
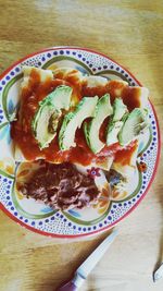
[[[108,183],[102,180],[98,168],[87,169],[101,183],[102,195],[97,206],[86,209],[55,211],[48,206],[24,198],[15,190],[16,174],[28,174],[28,166],[15,163],[13,144],[10,137],[10,121],[13,120],[18,106],[18,89],[22,80],[22,65],[58,70],[73,68],[83,74],[102,75],[127,81],[129,85],[140,85],[124,68],[110,58],[82,48],[49,48],[24,58],[7,70],[0,78],[0,207],[20,222],[41,234],[51,237],[75,238],[103,231],[117,223],[128,215],[141,201],[152,182],[160,154],[160,134],[156,117],[149,102],[151,129],[139,143],[135,179],[130,181],[129,195],[116,201],[116,194],[110,199]],[[146,165],[146,171],[140,165]],[[22,167],[22,168],[21,168]],[[100,181],[100,182],[99,182]]]

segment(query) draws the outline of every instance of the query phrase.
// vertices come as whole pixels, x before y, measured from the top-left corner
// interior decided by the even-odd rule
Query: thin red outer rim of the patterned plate
[[[21,62],[25,61],[26,59],[28,58],[32,58],[36,54],[39,54],[39,53],[42,53],[42,52],[47,52],[47,51],[50,51],[50,50],[58,50],[58,49],[74,49],[74,50],[84,50],[84,51],[87,51],[87,52],[90,52],[90,53],[96,53],[98,56],[101,56],[101,57],[104,57],[106,58],[109,61],[113,61],[115,64],[120,65],[122,69],[124,69],[126,72],[128,72],[128,74],[130,74],[130,76],[138,83],[139,86],[142,86],[142,84],[133,75],[133,73],[130,73],[129,70],[127,70],[125,66],[123,66],[122,64],[120,64],[118,62],[114,61],[113,59],[111,59],[110,57],[105,56],[104,53],[102,52],[99,52],[99,51],[96,51],[96,50],[92,50],[92,49],[89,49],[89,48],[85,48],[85,47],[76,47],[76,46],[59,46],[59,47],[50,47],[50,48],[45,48],[45,49],[41,49],[39,51],[36,51],[36,52],[33,52],[33,53],[29,53],[27,54],[26,57],[20,59],[18,61],[14,62],[11,66],[9,66],[1,75],[0,75],[0,80],[5,75],[8,74],[8,72],[10,72],[15,65],[20,64]],[[142,198],[146,196],[146,194],[148,193],[153,180],[154,180],[154,177],[155,177],[155,173],[156,173],[156,170],[158,170],[158,166],[159,166],[159,160],[160,160],[160,155],[161,155],[161,133],[160,133],[160,126],[159,126],[159,121],[158,121],[158,117],[156,117],[156,112],[155,112],[155,109],[153,107],[153,105],[151,104],[151,101],[149,100],[151,107],[152,107],[152,111],[153,111],[153,114],[154,114],[154,119],[155,119],[155,122],[156,122],[156,130],[158,130],[158,153],[156,153],[156,160],[155,160],[155,165],[154,165],[154,169],[153,169],[153,172],[152,172],[152,177],[148,183],[148,186],[146,189],[146,191],[143,192],[143,194],[141,195],[141,197],[137,201],[137,203],[125,214],[123,215],[122,217],[120,217],[116,221],[112,222],[111,225],[104,227],[104,228],[101,228],[100,230],[95,230],[95,231],[91,231],[89,233],[79,233],[79,234],[55,234],[55,233],[49,233],[49,232],[46,232],[46,231],[42,231],[42,230],[39,230],[39,229],[35,229],[22,221],[20,221],[15,216],[13,216],[1,203],[0,203],[0,209],[7,214],[12,220],[14,220],[15,222],[17,222],[18,225],[21,225],[22,227],[28,229],[28,230],[32,230],[33,232],[36,232],[36,233],[39,233],[39,234],[42,234],[42,235],[47,235],[47,237],[50,237],[50,238],[63,238],[63,239],[75,239],[75,238],[80,238],[80,237],[88,237],[88,235],[93,235],[93,234],[97,234],[97,233],[101,233],[105,230],[109,230],[111,228],[113,228],[115,225],[117,225],[122,219],[124,219],[125,217],[127,217],[138,205],[139,203],[142,201]]]

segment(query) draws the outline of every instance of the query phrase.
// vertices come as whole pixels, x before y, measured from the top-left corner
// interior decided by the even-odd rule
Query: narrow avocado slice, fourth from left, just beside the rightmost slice
[[[118,142],[117,134],[127,118],[127,107],[123,104],[123,100],[121,98],[115,98],[113,102],[113,117],[110,120],[106,129],[108,146]]]

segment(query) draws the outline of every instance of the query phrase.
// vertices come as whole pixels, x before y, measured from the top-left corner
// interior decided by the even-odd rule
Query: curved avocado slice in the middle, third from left
[[[97,104],[95,118],[89,123],[85,122],[84,124],[87,144],[95,154],[99,153],[104,146],[104,143],[99,138],[100,126],[104,119],[112,113],[113,109],[110,104],[110,95],[105,94]]]

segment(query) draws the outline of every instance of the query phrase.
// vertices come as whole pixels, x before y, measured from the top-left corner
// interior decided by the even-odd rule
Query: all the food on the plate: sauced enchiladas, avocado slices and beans
[[[109,199],[126,197],[139,137],[150,126],[148,89],[66,68],[25,66],[23,74],[11,129],[15,160],[45,160],[45,167],[27,182],[17,181],[18,191],[55,209],[90,206],[100,196],[99,174],[88,175],[92,167],[116,193]]]

